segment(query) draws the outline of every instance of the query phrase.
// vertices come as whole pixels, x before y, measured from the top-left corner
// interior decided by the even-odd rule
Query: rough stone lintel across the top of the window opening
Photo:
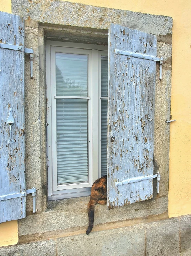
[[[172,34],[172,18],[50,0],[12,0],[12,13],[43,23],[108,29],[117,23],[155,35]]]

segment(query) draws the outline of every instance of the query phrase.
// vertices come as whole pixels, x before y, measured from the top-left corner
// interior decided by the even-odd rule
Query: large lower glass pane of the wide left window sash
[[[88,182],[87,100],[56,99],[58,184]]]

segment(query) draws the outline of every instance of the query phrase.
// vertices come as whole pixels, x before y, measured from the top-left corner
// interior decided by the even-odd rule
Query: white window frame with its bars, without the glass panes
[[[74,197],[74,194],[87,191],[101,177],[101,56],[108,56],[108,46],[46,41],[45,50],[48,196],[59,195],[61,198],[63,194],[63,198],[67,198],[67,192],[72,191],[71,197]],[[56,52],[88,55],[88,97],[56,96]],[[88,101],[88,182],[57,185],[56,114],[52,114],[56,113],[56,98],[84,98]]]

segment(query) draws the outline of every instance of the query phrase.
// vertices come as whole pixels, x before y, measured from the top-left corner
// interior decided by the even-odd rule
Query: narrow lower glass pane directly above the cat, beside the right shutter
[[[101,99],[101,176],[106,175],[107,165],[107,99]]]

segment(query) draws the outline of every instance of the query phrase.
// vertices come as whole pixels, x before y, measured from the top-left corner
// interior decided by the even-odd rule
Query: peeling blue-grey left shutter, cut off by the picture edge
[[[26,216],[26,196],[24,196],[24,19],[17,15],[0,12],[0,20],[1,223]],[[21,48],[19,46],[23,46],[23,50],[19,50]],[[10,47],[15,47],[15,50],[8,49]],[[12,112],[9,109],[12,109]],[[8,143],[9,113],[15,121],[11,127],[14,144]],[[16,198],[7,199],[10,197]]]

